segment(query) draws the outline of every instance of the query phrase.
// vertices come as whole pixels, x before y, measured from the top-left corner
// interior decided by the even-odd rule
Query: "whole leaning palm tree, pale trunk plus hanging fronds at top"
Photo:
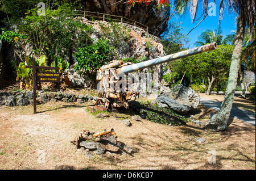
[[[191,6],[192,21],[196,20],[196,12],[199,7],[199,0],[174,0],[175,5],[178,2],[185,3],[186,6]],[[205,129],[212,129],[214,131],[224,131],[228,128],[228,120],[230,111],[233,106],[234,92],[237,86],[238,71],[240,68],[241,51],[243,46],[243,38],[245,37],[245,28],[247,26],[248,31],[252,37],[253,28],[255,26],[255,0],[220,0],[220,16],[219,23],[224,16],[225,2],[228,4],[229,12],[235,12],[237,16],[237,30],[234,41],[234,49],[232,54],[232,62],[229,69],[228,85],[224,100],[221,104],[220,110],[216,116],[212,118],[205,125]],[[215,3],[215,0],[214,0]],[[179,10],[179,9],[177,9]],[[208,15],[208,0],[203,1],[204,18]],[[198,25],[198,24],[197,24]]]

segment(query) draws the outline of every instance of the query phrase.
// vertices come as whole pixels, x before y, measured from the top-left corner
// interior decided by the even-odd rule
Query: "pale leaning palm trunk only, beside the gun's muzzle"
[[[224,100],[221,104],[220,110],[217,115],[212,116],[212,118],[205,125],[204,129],[212,129],[212,131],[224,131],[228,128],[230,111],[233,105],[234,93],[237,86],[238,71],[240,68],[240,58],[241,50],[243,44],[243,36],[245,34],[246,20],[243,18],[242,7],[237,17],[237,32],[236,39],[234,43],[234,50],[232,54],[232,61],[229,70],[228,85],[226,87]]]

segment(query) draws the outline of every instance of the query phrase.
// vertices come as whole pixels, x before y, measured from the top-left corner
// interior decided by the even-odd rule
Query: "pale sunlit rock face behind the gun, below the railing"
[[[110,23],[104,21],[90,21],[84,17],[76,17],[75,20],[80,21],[87,26],[92,26],[93,33],[90,37],[97,41],[101,36],[104,36],[102,32],[102,27],[111,26]],[[129,37],[126,41],[121,39],[118,43],[118,48],[115,49],[116,56],[113,59],[124,59],[124,58],[135,58],[138,61],[151,60],[152,58],[165,56],[166,53],[163,50],[163,45],[160,42],[159,37],[148,34],[142,28],[131,26],[126,23],[115,23],[114,26],[122,27],[123,33]],[[112,27],[113,28],[113,27]],[[110,44],[114,47],[112,40],[110,39]],[[75,50],[74,50],[75,51]],[[75,60],[73,60],[75,62]],[[144,69],[144,71],[148,71]],[[156,66],[154,71],[159,73],[160,76],[160,65]],[[71,86],[73,87],[90,87],[92,81],[83,74],[77,74],[75,71],[67,69],[65,71]],[[160,77],[159,77],[160,78]]]

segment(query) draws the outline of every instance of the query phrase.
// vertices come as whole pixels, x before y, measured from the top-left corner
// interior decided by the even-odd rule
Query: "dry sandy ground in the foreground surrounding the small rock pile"
[[[85,106],[48,102],[38,106],[36,115],[32,106],[0,107],[0,169],[255,169],[255,127],[240,120],[218,133],[194,123],[170,127],[131,120],[126,127],[117,117],[94,117]],[[206,123],[211,112],[200,105],[191,113]],[[70,142],[83,128],[114,128],[134,155],[88,158]],[[206,141],[199,144],[199,137]],[[216,163],[208,162],[212,153]]]

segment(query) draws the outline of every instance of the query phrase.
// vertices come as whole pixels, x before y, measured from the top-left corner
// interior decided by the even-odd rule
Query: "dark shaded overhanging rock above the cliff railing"
[[[150,5],[141,3],[134,7],[120,2],[120,0],[83,0],[81,1],[86,11],[101,12],[110,15],[123,16],[135,20],[149,27],[154,35],[159,36],[167,27],[167,19],[170,16],[170,8],[160,7],[159,1],[152,1]]]

